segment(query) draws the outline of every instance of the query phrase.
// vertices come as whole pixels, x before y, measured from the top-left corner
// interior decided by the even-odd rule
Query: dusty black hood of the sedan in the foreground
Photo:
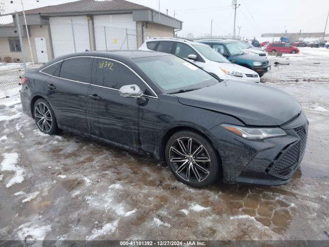
[[[302,110],[281,90],[234,80],[175,95],[181,104],[228,114],[251,126],[281,126]]]

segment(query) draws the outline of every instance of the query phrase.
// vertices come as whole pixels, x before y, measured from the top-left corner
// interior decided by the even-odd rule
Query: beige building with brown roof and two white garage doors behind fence
[[[23,13],[18,12],[27,61],[31,61]],[[34,62],[85,50],[137,49],[145,39],[174,37],[182,22],[124,0],[81,0],[25,11]],[[12,18],[11,18],[12,15]],[[15,14],[0,23],[0,58],[21,57]],[[9,18],[7,18],[9,19]]]

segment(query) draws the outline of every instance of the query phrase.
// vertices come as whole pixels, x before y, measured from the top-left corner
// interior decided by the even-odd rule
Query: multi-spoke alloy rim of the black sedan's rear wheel
[[[51,130],[52,117],[50,110],[48,109],[45,103],[39,102],[38,104],[35,105],[34,117],[35,117],[36,125],[38,125],[40,130],[42,130],[45,133]]]

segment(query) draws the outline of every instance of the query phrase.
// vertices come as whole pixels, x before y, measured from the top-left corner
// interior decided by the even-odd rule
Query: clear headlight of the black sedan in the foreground
[[[235,125],[221,125],[224,129],[248,140],[262,140],[287,135],[281,128],[247,128]]]

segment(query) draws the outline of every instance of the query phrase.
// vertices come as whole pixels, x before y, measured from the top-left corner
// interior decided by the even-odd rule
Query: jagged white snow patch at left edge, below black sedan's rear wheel
[[[13,184],[20,184],[24,181],[24,168],[16,166],[18,161],[19,154],[16,152],[13,153],[4,153],[4,160],[1,163],[1,171],[14,171],[14,177],[12,177],[6,185],[6,188],[11,187]]]

